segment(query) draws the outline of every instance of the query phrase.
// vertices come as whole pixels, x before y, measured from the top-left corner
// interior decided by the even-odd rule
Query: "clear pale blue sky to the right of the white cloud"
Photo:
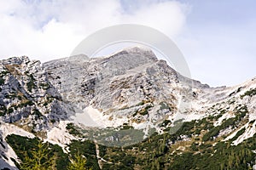
[[[235,85],[255,77],[256,1],[181,2],[191,9],[177,45],[192,77],[213,86]]]

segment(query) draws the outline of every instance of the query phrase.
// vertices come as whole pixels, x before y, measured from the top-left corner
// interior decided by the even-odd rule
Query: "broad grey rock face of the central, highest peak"
[[[131,122],[118,121],[116,126],[161,122],[167,113],[177,111],[182,95],[186,96],[184,100],[192,96],[188,93],[191,80],[183,77],[186,84],[184,89],[178,90],[183,84],[179,83],[178,73],[166,61],[157,59],[152,51],[140,48],[125,49],[104,58],[81,59],[80,62],[73,57],[59,59],[44,63],[43,67],[49,82],[76,111],[92,105],[102,111],[106,119],[131,119]],[[166,108],[160,109],[161,105]],[[153,120],[148,119],[148,112],[154,114]]]

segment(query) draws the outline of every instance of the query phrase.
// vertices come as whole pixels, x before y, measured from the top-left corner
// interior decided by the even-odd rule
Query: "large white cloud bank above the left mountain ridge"
[[[90,33],[122,23],[151,26],[175,37],[185,13],[186,6],[177,2],[147,1],[128,12],[118,0],[1,1],[0,58],[65,57]]]

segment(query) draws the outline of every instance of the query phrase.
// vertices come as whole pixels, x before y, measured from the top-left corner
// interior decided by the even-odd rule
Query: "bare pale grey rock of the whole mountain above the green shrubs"
[[[33,133],[73,120],[77,113],[90,115],[99,127],[126,125],[144,133],[152,128],[161,133],[176,121],[216,115],[218,126],[245,108],[252,122],[255,94],[255,78],[236,87],[210,88],[181,76],[165,60],[141,48],[93,59],[77,55],[43,65],[27,57],[0,61],[1,122],[15,122]],[[247,130],[236,144],[253,136],[255,122],[251,124],[237,123]],[[220,134],[235,130],[224,129]]]

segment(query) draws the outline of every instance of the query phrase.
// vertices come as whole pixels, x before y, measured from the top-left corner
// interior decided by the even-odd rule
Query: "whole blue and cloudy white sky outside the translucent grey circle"
[[[254,0],[0,0],[0,59],[69,56],[106,26],[140,24],[170,37],[194,79],[212,87],[256,77]]]

